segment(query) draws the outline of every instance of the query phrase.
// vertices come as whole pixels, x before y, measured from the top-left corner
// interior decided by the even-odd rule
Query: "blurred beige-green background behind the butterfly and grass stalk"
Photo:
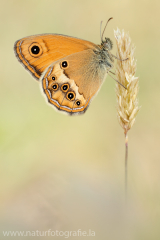
[[[0,0],[1,239],[5,230],[48,229],[91,229],[96,240],[160,239],[159,10],[158,0]],[[115,43],[113,29],[129,32],[140,80],[127,211],[113,79],[107,77],[83,116],[66,116],[46,104],[13,52],[16,40],[40,33],[99,44],[100,21],[109,17],[105,36]]]

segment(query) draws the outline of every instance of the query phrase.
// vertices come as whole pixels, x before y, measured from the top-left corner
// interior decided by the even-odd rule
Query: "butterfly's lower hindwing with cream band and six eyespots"
[[[106,76],[93,49],[52,63],[40,81],[48,102],[69,114],[84,113]]]

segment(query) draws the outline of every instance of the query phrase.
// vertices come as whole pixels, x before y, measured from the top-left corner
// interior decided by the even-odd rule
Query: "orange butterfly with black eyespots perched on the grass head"
[[[85,113],[113,67],[113,44],[103,34],[100,45],[59,34],[29,36],[15,42],[14,52],[52,106],[70,115]]]

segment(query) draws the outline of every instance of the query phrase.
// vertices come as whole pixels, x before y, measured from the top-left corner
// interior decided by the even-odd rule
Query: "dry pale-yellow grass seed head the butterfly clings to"
[[[129,34],[124,30],[120,32],[119,29],[114,31],[116,44],[117,44],[117,57],[119,59],[126,59],[125,61],[117,60],[116,66],[116,78],[123,84],[123,88],[120,84],[116,84],[117,95],[117,115],[118,120],[125,135],[129,129],[132,128],[135,117],[139,111],[138,107],[138,77],[135,77],[136,61],[134,58],[135,47],[131,44]]]

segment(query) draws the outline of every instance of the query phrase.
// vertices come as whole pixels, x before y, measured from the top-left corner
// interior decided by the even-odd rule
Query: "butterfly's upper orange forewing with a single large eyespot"
[[[53,62],[86,49],[96,49],[97,45],[58,34],[43,34],[16,41],[14,51],[22,65],[39,79],[44,70]]]

